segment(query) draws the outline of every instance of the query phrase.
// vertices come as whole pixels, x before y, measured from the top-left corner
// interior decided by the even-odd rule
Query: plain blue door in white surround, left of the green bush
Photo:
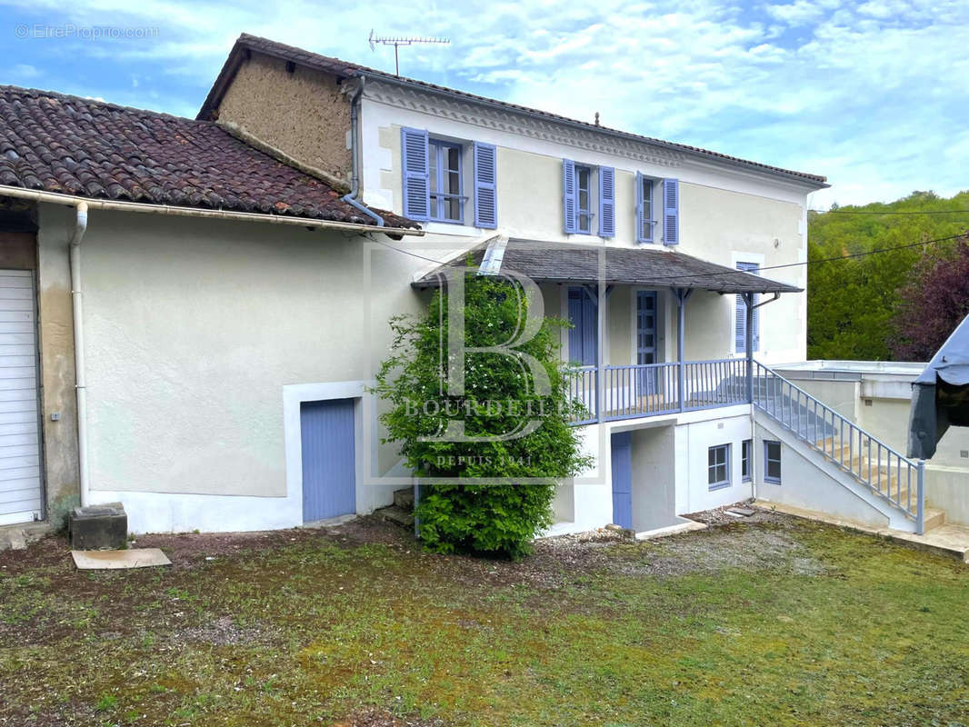
[[[357,512],[354,400],[304,401],[299,428],[303,522]]]

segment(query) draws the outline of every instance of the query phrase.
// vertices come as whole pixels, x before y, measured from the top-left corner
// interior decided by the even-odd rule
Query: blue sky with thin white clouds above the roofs
[[[70,7],[65,9],[65,6]],[[969,0],[0,0],[0,83],[194,117],[241,32],[828,176],[812,208],[969,189]]]

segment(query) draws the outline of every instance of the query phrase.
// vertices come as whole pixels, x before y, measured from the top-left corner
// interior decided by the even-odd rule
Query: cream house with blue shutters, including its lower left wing
[[[71,473],[86,472],[87,501],[123,501],[137,531],[292,526],[389,504],[414,480],[379,444],[380,404],[366,391],[387,321],[422,310],[436,273],[471,255],[527,275],[545,309],[573,324],[562,351],[596,465],[559,487],[552,532],[678,527],[683,514],[751,496],[830,503],[874,526],[932,523],[918,462],[883,450],[772,368],[805,358],[807,195],[824,177],[249,35],[196,121],[7,93],[6,133],[38,158],[38,169],[0,167],[0,196],[28,201],[36,220],[45,457],[52,437],[63,442],[44,470],[51,503],[51,491],[70,499]],[[17,93],[35,94],[39,118],[20,120],[30,104]],[[93,157],[119,165],[116,184],[73,171],[95,142],[89,133],[41,150],[29,130],[56,129],[51,113],[80,126],[108,113],[127,129]],[[172,156],[126,161],[122,149],[161,143],[139,131],[149,118],[172,128]],[[293,182],[237,189],[223,154]],[[98,179],[101,167],[91,170]],[[156,189],[159,167],[171,184]],[[71,428],[75,369],[64,345],[75,213],[25,189],[89,201],[73,248],[86,445]],[[325,209],[313,203],[321,193]],[[105,199],[209,216],[99,207]],[[232,200],[250,200],[250,216],[217,218]],[[304,221],[317,229],[300,229]],[[50,325],[48,291],[61,310]],[[47,330],[60,336],[49,352]]]

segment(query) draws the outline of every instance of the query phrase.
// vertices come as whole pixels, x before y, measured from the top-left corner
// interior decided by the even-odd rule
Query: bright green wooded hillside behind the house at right
[[[809,212],[808,260],[845,259],[808,266],[808,358],[884,361],[892,356],[894,311],[921,250],[910,247],[859,258],[846,256],[950,237],[967,225],[969,192],[948,200],[932,192],[913,192],[890,204],[832,205],[830,212]]]

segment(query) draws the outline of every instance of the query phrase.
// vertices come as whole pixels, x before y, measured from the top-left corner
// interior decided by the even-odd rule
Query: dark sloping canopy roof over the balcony
[[[431,270],[416,280],[414,287],[437,287],[443,279],[444,269],[465,265],[468,256],[471,266],[480,266],[485,250],[494,245],[495,239]],[[497,260],[501,251],[495,249],[491,255]],[[497,271],[514,271],[536,282],[576,285],[602,281],[608,285],[695,288],[736,294],[799,293],[802,290],[662,247],[615,247],[512,238],[508,240]]]

